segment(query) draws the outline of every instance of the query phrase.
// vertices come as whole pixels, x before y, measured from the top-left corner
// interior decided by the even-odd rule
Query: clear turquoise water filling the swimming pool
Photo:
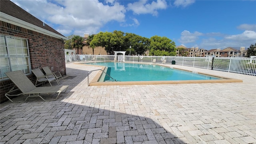
[[[121,62],[90,62],[90,65],[106,66],[110,76],[118,81],[160,81],[160,80],[219,80],[220,78],[195,74],[184,70],[154,64]],[[107,76],[108,77],[108,76]],[[106,78],[105,78],[106,79]],[[107,78],[109,79],[109,78]],[[111,80],[111,78],[110,78]]]

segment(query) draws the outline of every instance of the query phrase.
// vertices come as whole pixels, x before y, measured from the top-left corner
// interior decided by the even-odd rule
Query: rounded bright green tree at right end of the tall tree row
[[[158,51],[159,50],[159,51]],[[162,51],[162,52],[160,52]],[[163,36],[152,36],[150,38],[150,56],[175,56],[175,42]]]

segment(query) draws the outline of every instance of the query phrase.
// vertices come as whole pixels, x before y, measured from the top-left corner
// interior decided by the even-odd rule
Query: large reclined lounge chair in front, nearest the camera
[[[29,78],[21,71],[13,71],[13,72],[6,72],[5,73],[10,80],[15,84],[17,89],[14,90],[15,86],[5,94],[5,96],[11,101],[12,101],[8,96],[20,96],[20,95],[28,95],[24,101],[25,102],[28,97],[35,97],[38,96],[42,98],[39,94],[51,94],[51,93],[58,93],[58,96],[55,99],[52,100],[57,100],[57,98],[60,96],[60,93],[65,93],[66,90],[68,89],[68,86],[42,86],[42,87],[36,87],[30,80]],[[20,90],[20,94],[11,94],[13,92],[16,92],[17,90]],[[64,91],[65,90],[65,91]],[[64,92],[63,92],[64,91]],[[52,100],[45,100],[42,98],[44,101],[52,101]]]

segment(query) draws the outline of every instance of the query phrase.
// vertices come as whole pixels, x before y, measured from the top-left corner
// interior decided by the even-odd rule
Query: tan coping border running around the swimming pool
[[[102,61],[99,61],[102,62]],[[105,70],[105,66],[97,66],[97,65],[90,65],[90,64],[85,64],[86,62],[83,63],[75,63],[75,64],[81,64],[81,65],[86,65],[86,66],[96,66],[100,67],[99,69]],[[89,63],[89,62],[88,62]],[[141,63],[141,62],[125,62],[125,63],[135,63],[135,64],[152,64],[152,63]],[[152,64],[152,65],[159,65],[159,66],[165,66],[164,64]],[[168,68],[172,68],[170,66],[165,66]],[[193,72],[190,70],[185,70],[182,68],[174,68],[178,70],[184,70],[187,72]],[[213,76],[217,78],[222,78],[222,80],[164,80],[164,81],[131,81],[131,82],[98,82],[100,80],[100,77],[102,76],[103,72],[99,70],[96,76],[92,79],[92,81],[89,83],[89,86],[115,86],[115,85],[150,85],[150,84],[202,84],[202,83],[231,83],[231,82],[243,82],[243,80],[239,79],[234,79],[234,78],[227,78],[224,76],[217,76],[213,74],[207,74],[203,72],[197,72],[198,74],[203,74],[207,76]]]

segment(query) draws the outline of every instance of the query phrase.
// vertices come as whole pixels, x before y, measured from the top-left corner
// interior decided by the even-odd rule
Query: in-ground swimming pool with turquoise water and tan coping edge
[[[216,76],[212,74],[205,74],[202,72],[190,72],[189,70],[182,70],[180,68],[170,68],[172,65],[170,64],[143,64],[137,62],[79,62],[76,64],[81,64],[84,66],[98,66],[99,69],[103,70],[106,73],[109,73],[112,78],[116,79],[117,81],[109,81],[109,78],[105,77],[104,72],[98,70],[98,73],[92,80],[89,80],[88,75],[88,86],[113,86],[113,85],[148,85],[148,84],[198,84],[198,83],[227,83],[227,82],[243,82],[242,80],[233,79],[233,78],[226,78],[223,76]],[[108,66],[113,66],[111,69]],[[177,66],[175,66],[177,67]],[[132,73],[131,69],[134,68],[134,73]],[[140,70],[148,69],[148,73],[151,73],[151,76],[146,76],[148,73],[142,72],[142,74],[138,74]],[[137,69],[137,71],[136,71]],[[159,69],[158,72],[152,72],[155,69]],[[182,75],[174,76],[172,80],[152,80],[152,77],[170,77],[173,75],[174,72],[182,70]],[[116,74],[111,74],[111,71],[116,71]],[[170,74],[168,74],[168,71]],[[126,73],[122,73],[126,72]],[[160,73],[161,72],[161,73]],[[188,72],[188,73],[187,73]],[[187,73],[188,77],[194,77],[193,80],[184,80],[183,73]],[[129,81],[121,81],[120,78],[118,81],[117,76],[120,75],[122,77],[126,77]],[[144,77],[143,81],[138,81],[140,77]],[[135,78],[133,81],[131,78]],[[199,78],[199,79],[198,79]],[[203,79],[202,79],[203,78]],[[105,79],[105,82],[104,82]],[[106,80],[107,79],[107,80]],[[196,79],[196,80],[195,80]],[[127,80],[127,79],[125,79]]]

